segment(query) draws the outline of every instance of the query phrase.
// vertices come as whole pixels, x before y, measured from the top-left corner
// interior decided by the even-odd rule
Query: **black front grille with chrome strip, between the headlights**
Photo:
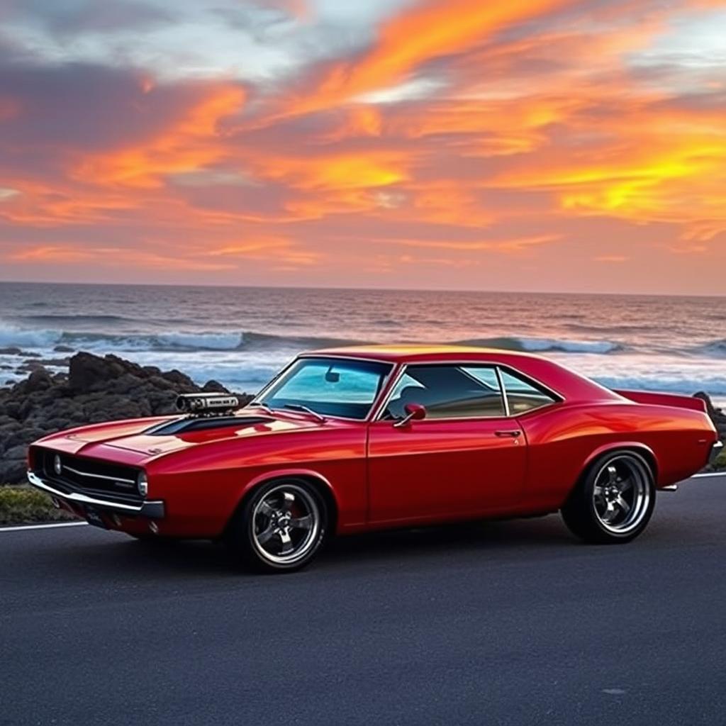
[[[60,456],[61,473],[55,473],[54,460]],[[59,492],[86,494],[122,504],[140,504],[143,497],[136,489],[140,469],[97,459],[38,449],[34,468],[52,481]]]

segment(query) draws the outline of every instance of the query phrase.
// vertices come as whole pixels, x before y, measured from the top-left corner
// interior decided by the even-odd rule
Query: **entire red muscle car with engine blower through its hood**
[[[628,542],[722,444],[703,401],[610,391],[539,356],[367,346],[298,356],[248,406],[89,425],[30,446],[30,483],[137,538],[223,539],[268,571],[329,534],[547,514]]]

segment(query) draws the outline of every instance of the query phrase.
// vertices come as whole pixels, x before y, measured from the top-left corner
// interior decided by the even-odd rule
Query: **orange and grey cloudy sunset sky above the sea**
[[[0,280],[726,294],[724,0],[0,0]]]

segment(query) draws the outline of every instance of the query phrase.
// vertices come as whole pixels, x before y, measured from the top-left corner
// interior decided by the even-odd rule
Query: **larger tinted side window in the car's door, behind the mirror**
[[[505,415],[492,366],[409,366],[391,393],[384,417],[403,418],[407,404],[425,406],[430,419]]]

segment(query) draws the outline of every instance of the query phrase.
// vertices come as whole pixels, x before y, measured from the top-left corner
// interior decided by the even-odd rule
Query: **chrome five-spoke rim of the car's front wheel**
[[[285,566],[313,549],[320,531],[314,497],[296,484],[280,484],[261,497],[252,515],[252,542],[270,563]]]

